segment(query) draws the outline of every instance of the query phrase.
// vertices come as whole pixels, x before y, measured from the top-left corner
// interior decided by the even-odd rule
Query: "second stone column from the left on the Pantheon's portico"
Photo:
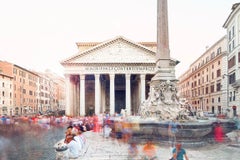
[[[85,116],[85,75],[80,75],[80,116]]]

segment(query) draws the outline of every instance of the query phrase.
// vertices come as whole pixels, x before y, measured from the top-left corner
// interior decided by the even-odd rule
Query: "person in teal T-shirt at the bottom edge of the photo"
[[[170,160],[189,160],[187,153],[184,148],[182,148],[182,144],[177,142],[175,148],[172,150],[172,158]]]

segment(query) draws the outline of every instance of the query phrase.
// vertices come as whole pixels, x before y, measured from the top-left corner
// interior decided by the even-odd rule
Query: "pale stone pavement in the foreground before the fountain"
[[[81,160],[127,160],[128,144],[117,139],[104,138],[101,133],[86,132],[87,152],[79,157]],[[138,146],[141,154],[142,145]],[[236,160],[240,157],[240,145],[214,144],[201,148],[186,148],[189,160]],[[171,149],[157,146],[159,160],[168,160]],[[135,158],[140,160],[141,156]]]

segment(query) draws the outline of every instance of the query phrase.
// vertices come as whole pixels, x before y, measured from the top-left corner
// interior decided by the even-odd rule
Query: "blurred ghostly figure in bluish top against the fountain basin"
[[[177,123],[176,119],[173,119],[168,124],[168,136],[169,136],[169,143],[171,143],[171,147],[175,146],[176,133],[178,132],[178,126],[181,126],[181,125]]]

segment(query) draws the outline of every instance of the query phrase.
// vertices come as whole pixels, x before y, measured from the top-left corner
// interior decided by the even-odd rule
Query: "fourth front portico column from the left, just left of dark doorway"
[[[115,113],[115,74],[110,74],[110,115]]]

